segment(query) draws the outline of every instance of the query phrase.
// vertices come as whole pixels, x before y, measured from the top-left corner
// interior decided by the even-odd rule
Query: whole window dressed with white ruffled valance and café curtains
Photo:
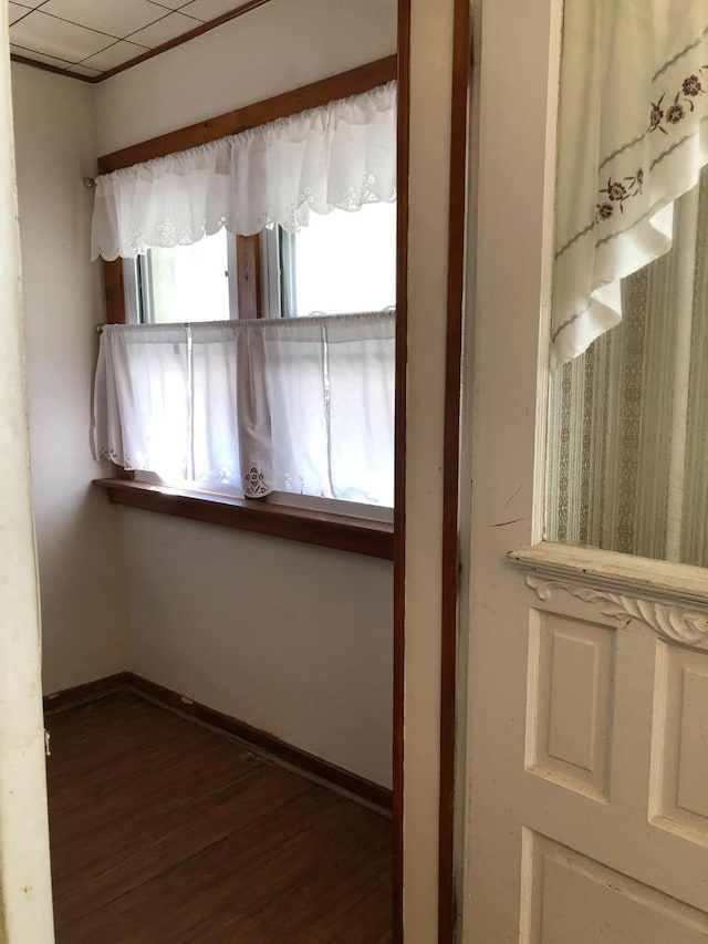
[[[93,251],[124,257],[127,324],[102,338],[96,452],[381,520],[363,509],[393,506],[395,83],[324,101],[292,142],[279,120],[98,178]]]

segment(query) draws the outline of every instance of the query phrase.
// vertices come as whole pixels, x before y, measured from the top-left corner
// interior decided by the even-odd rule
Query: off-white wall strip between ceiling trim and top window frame
[[[396,0],[271,0],[96,85],[98,153],[396,52]]]

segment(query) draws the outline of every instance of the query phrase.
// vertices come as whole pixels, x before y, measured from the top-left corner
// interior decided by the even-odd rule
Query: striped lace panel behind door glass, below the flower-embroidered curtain
[[[622,302],[552,378],[548,537],[708,567],[708,168]]]

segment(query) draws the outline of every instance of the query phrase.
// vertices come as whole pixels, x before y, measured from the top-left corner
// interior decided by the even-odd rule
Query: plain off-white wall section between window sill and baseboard
[[[387,561],[126,510],[131,667],[389,785]]]

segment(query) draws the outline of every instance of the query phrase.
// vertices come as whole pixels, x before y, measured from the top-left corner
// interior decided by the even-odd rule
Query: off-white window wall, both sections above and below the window
[[[272,0],[98,84],[98,151],[389,55],[395,14]],[[391,784],[391,563],[147,512],[123,528],[134,672]]]

